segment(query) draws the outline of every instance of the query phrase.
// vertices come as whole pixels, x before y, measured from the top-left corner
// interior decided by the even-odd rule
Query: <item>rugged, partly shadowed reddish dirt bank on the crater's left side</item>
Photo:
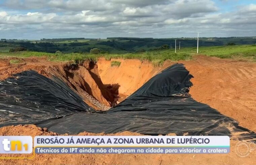
[[[11,77],[14,73],[36,70],[46,77],[54,75],[61,78],[93,108],[107,110],[114,101],[112,94],[105,89],[100,79],[95,62],[85,61],[82,64],[73,64],[70,62],[49,62],[44,58],[26,58],[19,59],[21,62],[18,64],[10,64],[10,59],[0,59],[2,66],[0,68],[0,80]]]

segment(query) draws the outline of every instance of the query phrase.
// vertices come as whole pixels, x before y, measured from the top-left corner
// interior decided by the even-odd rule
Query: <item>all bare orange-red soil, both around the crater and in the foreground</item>
[[[98,66],[85,62],[72,68],[73,65],[69,63],[48,62],[44,58],[23,59],[21,64],[9,64],[9,60],[0,59],[0,79],[27,69],[40,71],[46,76],[51,76],[51,73],[62,78],[81,96],[86,92],[105,105],[110,105],[109,102],[114,99],[113,94],[125,98],[153,75],[177,63],[166,61],[161,67],[153,67],[147,61],[112,59],[120,61],[121,65],[111,67],[111,61],[100,59],[97,62]],[[193,87],[190,94],[196,101],[206,103],[222,114],[238,120],[241,126],[256,131],[256,63],[207,56],[195,56],[193,60],[178,63],[184,63],[194,76],[191,80]],[[90,100],[86,97],[84,99],[90,105]],[[47,132],[34,125],[26,125],[2,127],[0,134],[35,136],[56,133]],[[79,135],[95,134],[82,132]],[[121,132],[115,135],[138,134]],[[32,160],[0,160],[0,164],[256,164],[256,150],[244,158],[236,155],[234,148],[237,142],[239,141],[231,140],[231,152],[223,155],[37,154]]]

